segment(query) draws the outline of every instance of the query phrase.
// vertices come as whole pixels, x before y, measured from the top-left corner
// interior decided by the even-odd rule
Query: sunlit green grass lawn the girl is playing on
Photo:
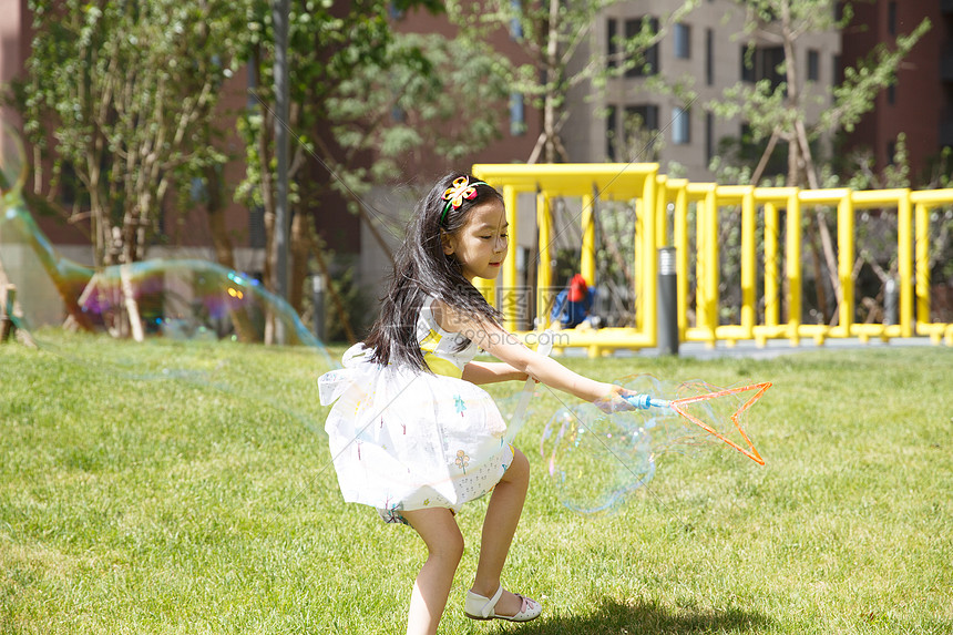
[[[424,549],[341,502],[319,356],[44,335],[0,346],[0,633],[403,632]],[[478,501],[441,633],[953,633],[953,350],[566,362],[772,381],[748,430],[767,464],[666,454],[615,513],[580,515],[537,450],[574,400],[541,391],[504,584],[543,617],[463,617]]]

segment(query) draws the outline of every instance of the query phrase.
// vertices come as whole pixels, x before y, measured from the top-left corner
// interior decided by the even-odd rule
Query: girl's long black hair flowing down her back
[[[417,318],[428,296],[467,314],[499,321],[500,311],[463,277],[457,257],[443,253],[441,235],[459,232],[473,207],[494,199],[502,204],[503,197],[490,185],[478,185],[475,197],[464,198],[457,209],[451,206],[441,218],[448,203],[443,193],[460,176],[467,176],[470,183],[476,181],[461,173],[451,173],[438,181],[417,204],[403,245],[394,254],[390,288],[381,299],[380,317],[365,340],[365,346],[373,349],[372,359],[378,363],[429,370],[417,341]],[[464,346],[467,344],[469,341]]]

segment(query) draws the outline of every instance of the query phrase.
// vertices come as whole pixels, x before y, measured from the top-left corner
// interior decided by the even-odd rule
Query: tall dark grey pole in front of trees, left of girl
[[[275,293],[288,299],[288,14],[289,0],[274,0],[271,21],[275,24],[275,157],[277,183],[275,192]],[[275,322],[275,338],[286,344],[284,324]]]

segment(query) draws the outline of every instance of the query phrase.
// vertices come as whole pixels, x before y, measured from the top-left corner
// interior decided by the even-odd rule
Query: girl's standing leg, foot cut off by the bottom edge
[[[407,635],[434,635],[447,606],[453,574],[463,556],[463,535],[450,510],[416,510],[401,514],[423,539],[428,551],[427,562],[413,583]]]

